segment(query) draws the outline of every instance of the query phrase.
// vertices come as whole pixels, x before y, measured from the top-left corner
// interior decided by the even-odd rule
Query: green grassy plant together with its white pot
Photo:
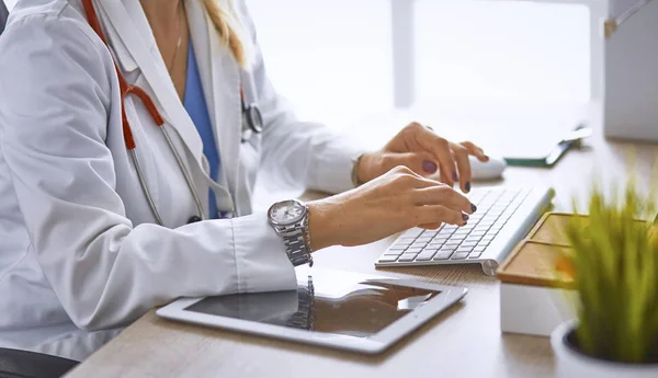
[[[589,216],[565,227],[572,248],[561,253],[557,268],[574,279],[578,295],[577,319],[551,337],[558,377],[658,377],[654,213],[651,197],[639,195],[633,183],[621,198],[606,198],[594,187]]]

